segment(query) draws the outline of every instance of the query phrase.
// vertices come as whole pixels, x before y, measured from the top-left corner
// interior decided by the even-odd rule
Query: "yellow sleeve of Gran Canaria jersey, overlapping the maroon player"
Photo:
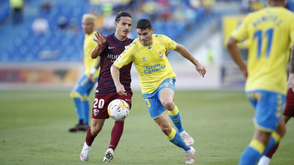
[[[115,65],[118,69],[121,69],[123,66],[126,66],[133,61],[133,52],[135,50],[135,46],[131,46],[131,45],[126,47],[123,53],[121,53],[119,57],[113,63],[113,65]]]

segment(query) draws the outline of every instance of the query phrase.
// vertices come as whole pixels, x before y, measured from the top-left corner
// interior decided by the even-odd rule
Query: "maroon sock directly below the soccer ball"
[[[119,139],[121,139],[121,135],[123,134],[123,124],[124,121],[115,121],[114,126],[111,131],[111,139],[108,148],[115,150],[118,145]]]

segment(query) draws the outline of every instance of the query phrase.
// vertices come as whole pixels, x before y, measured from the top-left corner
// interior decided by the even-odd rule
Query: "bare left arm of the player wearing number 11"
[[[237,40],[235,40],[233,37],[230,37],[226,43],[226,46],[227,46],[227,49],[228,49],[231,57],[233,58],[235,63],[239,66],[243,75],[247,78],[247,76],[248,76],[247,66],[241,57],[240,51],[237,47],[237,43],[238,43]]]

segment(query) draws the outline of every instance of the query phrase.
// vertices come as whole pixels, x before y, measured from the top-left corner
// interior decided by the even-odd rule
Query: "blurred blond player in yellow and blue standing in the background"
[[[82,28],[85,33],[84,39],[84,67],[85,73],[78,80],[78,83],[70,93],[71,98],[74,100],[74,105],[76,107],[76,113],[78,115],[79,123],[70,128],[70,132],[76,132],[78,130],[86,131],[88,129],[89,122],[89,93],[91,92],[95,82],[98,80],[98,75],[100,68],[94,68],[97,63],[99,63],[99,58],[92,59],[91,51],[97,43],[93,40],[95,38],[94,22],[96,16],[92,14],[84,14],[82,19]]]

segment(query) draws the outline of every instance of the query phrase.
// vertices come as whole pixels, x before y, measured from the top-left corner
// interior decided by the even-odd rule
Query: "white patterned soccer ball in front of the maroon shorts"
[[[128,116],[129,107],[128,103],[124,100],[116,99],[108,105],[108,115],[114,120],[123,120]]]

